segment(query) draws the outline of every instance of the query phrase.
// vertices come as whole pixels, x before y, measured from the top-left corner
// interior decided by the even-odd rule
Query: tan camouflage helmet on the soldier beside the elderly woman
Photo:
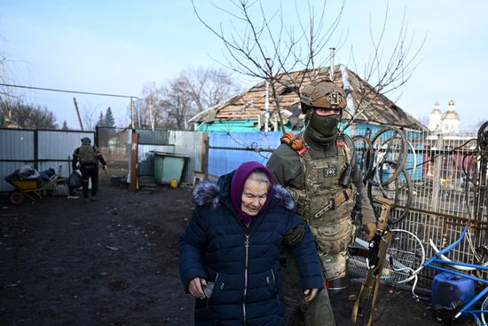
[[[330,80],[312,82],[300,94],[302,112],[311,107],[342,109],[347,106],[346,93]]]

